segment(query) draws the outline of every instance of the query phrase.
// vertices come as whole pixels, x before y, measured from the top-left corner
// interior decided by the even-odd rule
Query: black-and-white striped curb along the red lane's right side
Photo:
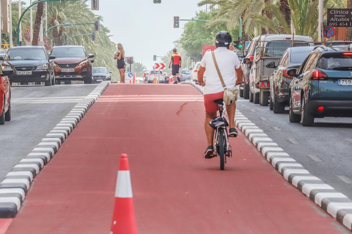
[[[204,87],[195,82],[181,82],[193,85],[203,93]],[[296,160],[285,153],[262,129],[236,110],[236,126],[248,137],[276,171],[283,178],[299,189],[304,195],[314,201],[323,210],[336,218],[345,227],[352,230],[352,200],[338,192],[318,177],[310,174]]]

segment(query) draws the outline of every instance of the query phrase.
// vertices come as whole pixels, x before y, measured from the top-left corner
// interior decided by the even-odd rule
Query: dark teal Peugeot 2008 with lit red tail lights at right
[[[314,118],[352,117],[352,52],[316,46],[290,84],[290,122],[312,126]]]

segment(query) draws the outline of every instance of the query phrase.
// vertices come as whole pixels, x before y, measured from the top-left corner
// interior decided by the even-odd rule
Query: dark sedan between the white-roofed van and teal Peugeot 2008
[[[269,62],[268,68],[275,68],[270,77],[270,110],[274,113],[284,113],[285,105],[288,105],[290,83],[293,76],[287,74],[290,68],[299,68],[307,55],[312,52],[314,46],[290,47],[282,55],[279,63]]]

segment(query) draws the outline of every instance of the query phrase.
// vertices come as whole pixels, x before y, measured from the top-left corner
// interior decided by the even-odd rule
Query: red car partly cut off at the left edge
[[[11,83],[8,75],[13,73],[12,69],[0,67],[0,125],[11,120]]]

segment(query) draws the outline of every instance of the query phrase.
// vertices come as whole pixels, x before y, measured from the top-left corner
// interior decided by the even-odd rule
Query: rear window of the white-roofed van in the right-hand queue
[[[287,48],[291,47],[291,45],[292,41],[267,41],[264,45],[264,56],[281,58],[282,54]],[[309,46],[309,42],[294,41],[293,46]]]

